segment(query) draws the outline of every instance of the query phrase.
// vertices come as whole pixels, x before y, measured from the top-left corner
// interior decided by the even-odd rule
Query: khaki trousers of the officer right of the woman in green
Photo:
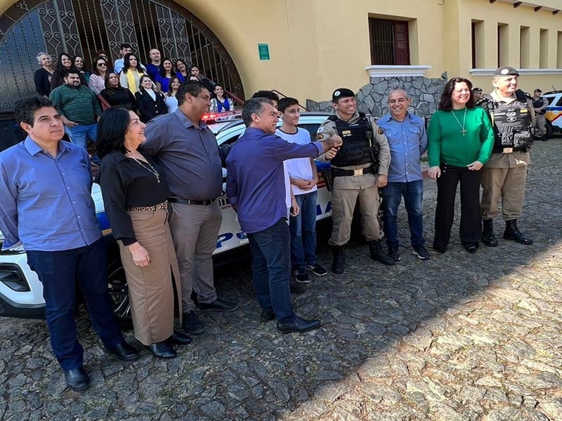
[[[489,220],[499,214],[499,199],[502,199],[502,215],[504,220],[514,220],[523,213],[525,198],[525,180],[527,167],[513,168],[482,168],[482,219]]]

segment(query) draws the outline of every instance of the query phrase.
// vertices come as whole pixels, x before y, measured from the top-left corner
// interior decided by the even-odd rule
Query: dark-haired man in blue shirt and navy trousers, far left
[[[27,138],[0,153],[3,249],[27,251],[43,284],[53,353],[67,385],[81,391],[90,379],[76,335],[76,283],[106,352],[124,361],[138,359],[138,352],[125,342],[107,293],[107,257],[90,194],[88,153],[60,140],[63,122],[47,98],[23,98],[14,114]]]

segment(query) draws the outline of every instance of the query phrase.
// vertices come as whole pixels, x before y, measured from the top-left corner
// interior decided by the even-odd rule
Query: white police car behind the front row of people
[[[311,139],[313,139],[318,126],[329,115],[326,113],[305,112],[301,114],[299,126],[310,132]],[[211,118],[216,122],[209,124],[209,128],[216,135],[218,145],[235,142],[244,133],[244,123],[240,118],[237,118],[237,115],[232,113],[229,113],[224,121],[220,121],[220,117],[212,116]],[[318,163],[319,168],[322,168],[322,166],[327,166],[327,163]],[[327,191],[320,174],[319,178],[317,220],[328,218],[332,214],[330,202],[332,195]],[[109,255],[109,282],[107,288],[114,302],[117,317],[129,319],[131,308],[129,306],[124,270],[119,260],[117,243],[111,236],[111,228],[105,215],[99,185],[93,185],[92,197],[96,203],[96,215],[100,222],[100,227],[104,238],[107,240]],[[221,196],[218,198],[218,201],[223,210],[223,222],[216,241],[214,255],[221,255],[221,253],[235,250],[248,243],[246,235],[240,229],[234,209],[227,203],[226,196]],[[4,236],[0,233],[0,248],[1,241],[3,240]],[[37,279],[37,274],[27,265],[25,252],[0,251],[0,316],[40,319],[44,317],[44,311],[43,286],[39,279]]]

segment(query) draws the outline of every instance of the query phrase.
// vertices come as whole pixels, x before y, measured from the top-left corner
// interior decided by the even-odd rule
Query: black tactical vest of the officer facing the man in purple
[[[343,121],[337,116],[330,116],[328,119],[336,123],[338,134],[343,141],[338,153],[330,161],[333,166],[378,162],[379,149],[377,142],[373,140],[372,126],[365,118],[365,114],[360,112],[358,121],[353,124]]]

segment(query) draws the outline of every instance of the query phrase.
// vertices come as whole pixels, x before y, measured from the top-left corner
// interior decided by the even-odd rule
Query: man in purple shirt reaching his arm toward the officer
[[[283,161],[318,156],[339,147],[341,138],[308,145],[286,142],[275,135],[277,116],[273,102],[266,98],[251,98],[244,104],[242,120],[247,129],[226,159],[226,194],[254,256],[252,274],[261,320],[277,318],[277,330],[282,333],[307,332],[318,328],[320,320],[301,319],[291,304],[291,235]]]

